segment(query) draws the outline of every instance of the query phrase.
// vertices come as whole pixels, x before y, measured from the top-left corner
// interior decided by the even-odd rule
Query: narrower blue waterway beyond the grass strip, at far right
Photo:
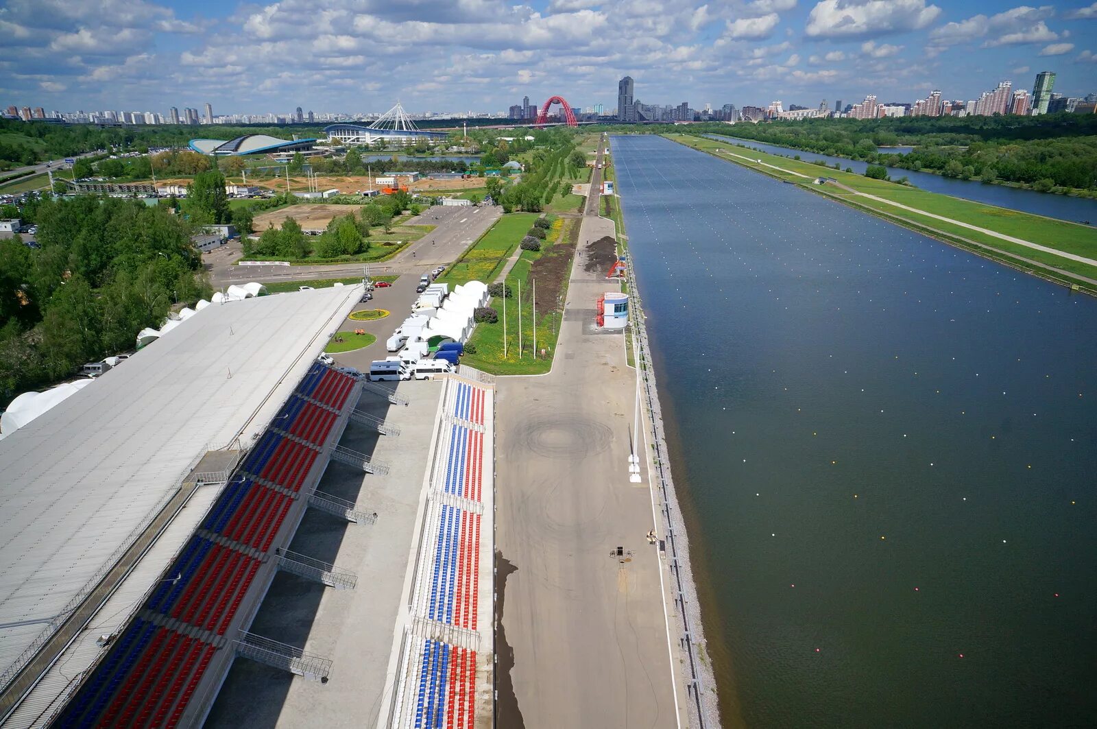
[[[783,155],[785,157],[800,155],[800,158],[805,161],[823,159],[832,166],[835,162],[839,162],[841,165],[841,169],[849,167],[859,175],[863,173],[866,168],[869,166],[868,162],[858,161],[856,159],[844,159],[841,157],[832,157],[829,155],[817,155],[813,152],[801,152],[800,149],[793,149],[792,147],[762,144],[761,142],[754,142],[753,139],[735,139],[719,134],[709,134],[706,136],[713,139],[720,139],[721,142],[745,144],[748,147],[754,147],[755,149],[768,152],[773,155]],[[898,149],[880,150],[891,152],[894,154],[900,152]],[[929,190],[930,192],[941,192],[947,195],[974,200],[975,202],[985,202],[992,205],[998,205],[999,208],[1020,210],[1026,213],[1047,215],[1048,217],[1058,217],[1063,221],[1089,221],[1097,224],[1097,200],[1053,195],[1048,192],[1037,192],[1034,190],[1018,190],[1017,188],[1007,188],[1000,184],[984,184],[979,180],[960,180],[957,178],[941,177],[940,175],[930,175],[929,172],[915,172],[914,170],[902,169],[898,167],[889,167],[887,173],[895,180],[905,176],[909,178],[912,184],[915,184],[923,190]]]

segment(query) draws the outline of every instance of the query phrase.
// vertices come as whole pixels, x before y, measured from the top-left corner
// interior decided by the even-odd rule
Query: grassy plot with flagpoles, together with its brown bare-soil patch
[[[559,335],[561,303],[567,296],[572,258],[579,236],[579,220],[558,218],[553,222],[548,238],[540,251],[523,250],[507,276],[511,296],[495,298],[491,307],[499,312],[495,324],[477,324],[468,344],[475,352],[466,352],[462,361],[490,374],[544,374],[552,369]],[[538,282],[538,339],[533,344],[533,279]],[[522,299],[518,300],[518,282]],[[504,307],[507,314],[506,345],[504,341]],[[519,348],[519,312],[521,343]],[[506,347],[506,356],[504,350]],[[540,350],[545,357],[540,357]],[[534,356],[536,355],[536,356]]]

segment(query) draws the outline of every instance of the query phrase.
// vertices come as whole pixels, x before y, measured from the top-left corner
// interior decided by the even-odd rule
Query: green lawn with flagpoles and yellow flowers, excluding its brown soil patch
[[[462,362],[490,374],[544,374],[552,369],[553,355],[556,350],[556,337],[559,333],[561,312],[548,311],[538,312],[538,338],[536,349],[533,340],[533,300],[530,287],[530,268],[533,261],[555,255],[554,244],[562,235],[569,236],[573,240],[578,234],[579,221],[557,220],[553,223],[548,238],[540,251],[523,250],[521,257],[516,261],[507,276],[507,283],[510,285],[511,295],[509,299],[491,299],[490,306],[499,313],[499,321],[495,324],[480,323],[476,325],[468,344],[475,348],[475,352],[465,352]],[[570,269],[570,255],[561,249],[559,255],[567,256],[567,269]],[[522,282],[522,305],[521,305],[521,350],[519,349],[519,305],[518,305],[518,282]],[[563,281],[561,290],[561,301],[567,294],[567,279]],[[504,307],[507,314],[507,337],[506,357],[504,357]],[[546,357],[541,359],[534,354],[540,349],[547,350]]]

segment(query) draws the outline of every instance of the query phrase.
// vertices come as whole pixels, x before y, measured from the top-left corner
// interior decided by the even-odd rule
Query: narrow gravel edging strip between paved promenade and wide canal
[[[671,577],[671,592],[675,594],[675,618],[678,628],[678,649],[681,661],[681,678],[687,686],[690,727],[715,729],[720,724],[720,707],[716,697],[716,682],[712,673],[710,659],[701,659],[708,654],[708,643],[701,623],[701,605],[697,597],[697,586],[693,583],[693,571],[689,560],[689,540],[686,536],[686,524],[678,497],[675,493],[674,480],[670,475],[669,450],[663,423],[663,411],[659,407],[659,394],[655,382],[655,370],[652,367],[647,341],[647,327],[644,324],[644,309],[636,287],[632,251],[629,251],[629,306],[632,310],[632,325],[635,327],[638,351],[634,352],[636,366],[644,379],[644,390],[647,401],[645,417],[651,426],[651,435],[655,446],[655,470],[653,475],[659,478],[659,493],[663,515],[663,537],[667,542],[666,564]]]

